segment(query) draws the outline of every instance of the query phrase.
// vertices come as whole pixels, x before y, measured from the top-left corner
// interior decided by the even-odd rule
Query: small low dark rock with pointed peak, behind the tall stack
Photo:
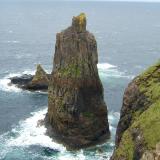
[[[47,91],[50,75],[47,74],[40,64],[37,65],[35,75],[22,75],[20,77],[12,77],[11,84],[26,90],[43,90]]]

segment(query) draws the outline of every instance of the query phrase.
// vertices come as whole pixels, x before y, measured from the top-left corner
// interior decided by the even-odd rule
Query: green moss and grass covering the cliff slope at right
[[[113,160],[133,160],[138,154],[140,159],[146,151],[155,150],[156,144],[160,142],[160,61],[136,77],[132,83],[145,96],[144,107],[136,106],[136,111],[129,112],[132,121],[122,134]]]

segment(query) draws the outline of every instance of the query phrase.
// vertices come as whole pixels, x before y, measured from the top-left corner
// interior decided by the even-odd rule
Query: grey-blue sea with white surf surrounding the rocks
[[[111,138],[68,151],[37,121],[47,93],[9,85],[10,77],[53,67],[56,33],[84,12],[98,45],[98,71],[108,107]],[[0,0],[0,160],[109,160],[128,83],[160,59],[160,3]]]

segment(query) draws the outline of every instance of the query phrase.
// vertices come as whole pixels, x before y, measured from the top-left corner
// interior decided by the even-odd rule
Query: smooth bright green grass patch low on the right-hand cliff
[[[155,149],[156,144],[160,142],[160,100],[143,112],[133,127],[140,127],[146,147],[149,150]]]

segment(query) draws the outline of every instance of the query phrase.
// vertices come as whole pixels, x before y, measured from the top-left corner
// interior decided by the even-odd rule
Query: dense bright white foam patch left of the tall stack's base
[[[16,138],[8,140],[8,146],[26,147],[30,145],[41,145],[52,149],[64,151],[65,147],[61,144],[53,142],[50,137],[45,135],[46,128],[44,126],[37,126],[38,120],[44,119],[47,109],[32,113],[32,116],[20,122],[17,128],[12,132],[18,133]]]

